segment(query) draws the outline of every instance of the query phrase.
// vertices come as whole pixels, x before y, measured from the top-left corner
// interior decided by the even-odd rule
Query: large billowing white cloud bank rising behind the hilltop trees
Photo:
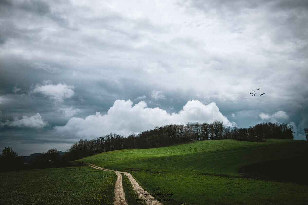
[[[65,126],[55,126],[55,130],[79,137],[99,137],[110,132],[127,136],[132,132],[138,133],[171,123],[211,123],[218,120],[225,126],[236,125],[221,114],[216,103],[205,105],[198,100],[190,100],[178,113],[168,113],[159,107],[148,108],[144,101],[132,105],[131,100],[116,100],[107,114],[96,112],[84,119],[73,117]]]

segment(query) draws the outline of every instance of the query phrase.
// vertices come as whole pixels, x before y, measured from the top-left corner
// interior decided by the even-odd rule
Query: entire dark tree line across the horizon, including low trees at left
[[[308,140],[308,128],[304,129]],[[153,148],[186,141],[235,139],[243,141],[265,141],[264,138],[293,139],[293,126],[286,123],[260,123],[249,128],[225,127],[222,122],[187,123],[156,126],[152,130],[127,137],[110,133],[102,137],[75,142],[66,153],[49,149],[46,153],[18,156],[12,147],[2,149],[0,172],[21,169],[80,166],[82,162],[71,162],[95,153],[118,149]],[[79,164],[78,164],[79,163]]]

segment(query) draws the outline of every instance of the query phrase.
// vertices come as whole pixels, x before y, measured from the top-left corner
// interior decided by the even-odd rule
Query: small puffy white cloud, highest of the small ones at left
[[[74,86],[65,83],[51,84],[45,81],[44,85],[37,84],[32,90],[33,93],[42,93],[56,102],[63,102],[64,99],[71,98],[74,95]]]

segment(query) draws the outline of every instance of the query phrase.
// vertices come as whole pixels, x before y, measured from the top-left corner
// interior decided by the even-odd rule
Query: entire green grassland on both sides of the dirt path
[[[117,150],[79,161],[130,172],[151,194],[154,190],[156,194],[169,191],[172,196],[156,195],[157,199],[172,199],[160,201],[166,205],[293,205],[306,204],[307,185],[256,180],[240,175],[237,170],[249,166],[273,170],[278,164],[277,172],[288,170],[290,176],[304,180],[307,154],[307,141],[212,140]],[[115,173],[91,167],[2,172],[0,204],[112,204],[115,180]],[[128,205],[136,204],[134,191],[125,176],[123,181]]]

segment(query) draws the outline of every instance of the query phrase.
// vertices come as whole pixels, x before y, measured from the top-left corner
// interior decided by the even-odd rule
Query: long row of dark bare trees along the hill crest
[[[264,141],[264,138],[293,139],[293,126],[286,123],[260,123],[249,128],[225,127],[222,122],[213,123],[190,122],[156,126],[152,130],[127,137],[110,133],[102,137],[75,142],[67,151],[70,160],[80,159],[95,153],[119,149],[154,148],[186,141],[235,139],[242,141]]]

